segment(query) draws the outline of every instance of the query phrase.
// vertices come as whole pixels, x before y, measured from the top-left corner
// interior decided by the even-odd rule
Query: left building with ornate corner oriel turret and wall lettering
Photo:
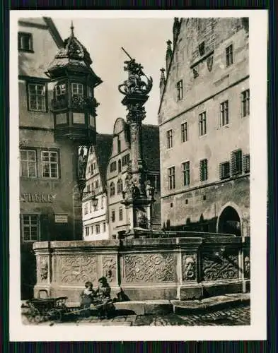
[[[33,242],[82,239],[78,165],[83,155],[78,157],[78,151],[80,144],[93,143],[95,138],[93,89],[101,83],[90,64],[91,58],[74,36],[73,26],[63,41],[51,18],[18,21],[23,299],[33,296]],[[73,73],[76,66],[77,76]],[[76,96],[88,107],[74,106]],[[88,111],[92,112],[90,120]],[[88,121],[93,124],[89,126]]]

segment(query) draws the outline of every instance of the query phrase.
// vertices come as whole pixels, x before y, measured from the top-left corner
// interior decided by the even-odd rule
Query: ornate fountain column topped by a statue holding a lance
[[[128,110],[127,124],[130,129],[131,162],[127,171],[128,179],[124,187],[122,203],[126,205],[129,213],[130,233],[132,234],[135,227],[145,229],[151,227],[150,206],[155,201],[154,188],[145,184],[146,168],[141,136],[142,121],[146,116],[144,104],[149,99],[148,93],[151,91],[153,80],[151,77],[146,77],[141,64],[137,64],[130,56],[129,58],[129,61],[124,61],[124,64],[127,64],[124,71],[127,71],[128,79],[119,85],[119,91],[124,95],[122,104]],[[142,76],[146,80],[142,80]]]

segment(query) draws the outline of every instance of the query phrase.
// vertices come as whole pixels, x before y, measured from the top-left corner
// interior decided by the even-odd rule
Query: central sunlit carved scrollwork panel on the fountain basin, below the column
[[[171,253],[124,256],[124,280],[136,282],[175,282],[175,257]]]

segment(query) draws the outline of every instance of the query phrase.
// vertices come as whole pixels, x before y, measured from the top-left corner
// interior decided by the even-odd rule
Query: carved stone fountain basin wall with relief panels
[[[248,238],[249,239],[249,238]],[[197,299],[250,288],[249,240],[183,237],[111,241],[50,241],[34,244],[37,284],[51,297],[78,303],[86,281],[105,276],[115,297],[131,300]],[[248,258],[249,263],[248,263]],[[245,271],[245,272],[244,272]]]

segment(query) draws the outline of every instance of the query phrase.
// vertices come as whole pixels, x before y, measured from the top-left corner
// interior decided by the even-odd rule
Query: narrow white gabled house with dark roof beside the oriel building
[[[98,134],[95,145],[88,151],[82,200],[83,240],[86,241],[109,239],[106,170],[111,148],[112,135]]]

